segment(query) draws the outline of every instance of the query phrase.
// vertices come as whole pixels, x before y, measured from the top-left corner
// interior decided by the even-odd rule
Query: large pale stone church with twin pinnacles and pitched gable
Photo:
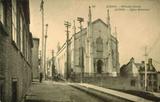
[[[83,72],[117,76],[119,73],[118,40],[111,34],[109,11],[106,23],[101,19],[92,22],[90,7],[88,18],[87,27],[75,32],[69,40],[68,69],[66,69],[66,43],[57,52],[56,68],[62,75]]]

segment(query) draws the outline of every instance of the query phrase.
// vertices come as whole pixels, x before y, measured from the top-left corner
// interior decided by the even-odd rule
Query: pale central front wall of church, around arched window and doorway
[[[103,52],[97,52],[97,38],[101,37],[103,40]],[[108,34],[107,34],[107,26],[102,22],[96,22],[93,24],[93,58],[94,58],[94,71],[97,72],[97,60],[100,59],[103,61],[102,72],[107,73],[107,66],[108,66]],[[98,59],[97,59],[98,58]]]

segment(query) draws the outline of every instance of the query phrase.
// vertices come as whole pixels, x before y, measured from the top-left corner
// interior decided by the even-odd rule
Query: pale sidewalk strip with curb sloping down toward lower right
[[[74,87],[77,87],[81,90],[88,91],[89,93],[97,94],[97,96],[102,97],[103,99],[105,97],[107,97],[105,99],[117,98],[115,100],[118,100],[118,98],[119,98],[119,100],[124,99],[126,101],[134,101],[134,102],[152,102],[150,100],[147,100],[147,99],[144,99],[144,98],[141,98],[141,97],[138,97],[138,96],[134,96],[134,95],[131,95],[131,94],[126,94],[126,93],[123,93],[123,92],[119,92],[119,91],[115,91],[115,90],[111,90],[111,89],[107,89],[107,88],[98,87],[98,86],[91,85],[91,84],[77,83],[77,85],[76,85],[74,83],[70,83],[70,85],[72,85]],[[83,86],[83,87],[78,87],[78,85]],[[90,90],[97,91],[97,92],[92,92]],[[105,93],[105,95],[100,94],[98,92]],[[113,97],[109,97],[109,95],[113,96]]]

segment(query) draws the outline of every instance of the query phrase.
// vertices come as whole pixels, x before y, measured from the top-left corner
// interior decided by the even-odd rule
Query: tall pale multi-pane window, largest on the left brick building
[[[12,40],[17,44],[17,2],[12,0]]]

